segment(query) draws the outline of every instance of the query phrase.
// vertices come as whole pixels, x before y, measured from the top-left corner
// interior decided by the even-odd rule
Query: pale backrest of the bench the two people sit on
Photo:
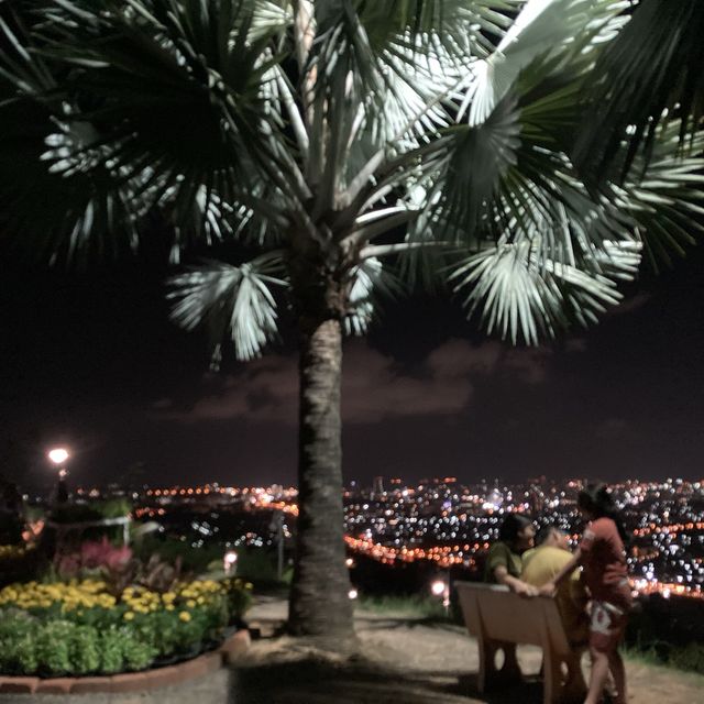
[[[498,584],[455,582],[464,623],[481,639],[532,644],[569,654],[560,612],[553,598],[527,598]]]

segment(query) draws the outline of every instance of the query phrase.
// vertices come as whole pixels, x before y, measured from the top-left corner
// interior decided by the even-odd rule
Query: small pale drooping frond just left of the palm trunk
[[[229,331],[238,359],[257,358],[276,337],[276,300],[271,288],[287,285],[282,272],[279,252],[241,266],[209,262],[193,267],[168,282],[167,297],[174,301],[170,319],[186,330],[205,324],[216,343]]]

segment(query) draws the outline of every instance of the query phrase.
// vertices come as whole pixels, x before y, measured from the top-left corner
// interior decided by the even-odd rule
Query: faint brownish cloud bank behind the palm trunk
[[[551,355],[546,348],[515,350],[498,342],[473,345],[450,340],[430,352],[422,364],[409,367],[364,341],[351,340],[343,356],[343,421],[375,424],[388,418],[461,414],[472,403],[473,380],[498,374],[524,384],[540,384]],[[208,391],[191,407],[175,408],[162,398],[152,407],[153,417],[185,424],[233,419],[297,422],[294,356],[268,355],[244,365],[240,374],[219,378],[208,374],[204,382]]]

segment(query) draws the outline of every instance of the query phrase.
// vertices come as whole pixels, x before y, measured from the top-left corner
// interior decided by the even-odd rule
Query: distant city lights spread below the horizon
[[[508,512],[530,515],[538,525],[553,524],[576,544],[582,522],[576,495],[582,480],[546,477],[521,484],[481,481],[461,484],[454,477],[407,484],[375,477],[372,486],[355,482],[344,491],[346,544],[351,557],[369,558],[389,568],[427,562],[481,579],[483,558]],[[111,493],[120,493],[112,487]],[[703,598],[704,492],[702,482],[669,479],[630,480],[613,485],[630,536],[628,561],[634,588],[640,594]],[[79,488],[77,497],[100,496]],[[135,518],[154,520],[161,531],[193,548],[273,547],[288,551],[295,531],[297,490],[201,486],[143,487],[132,491]]]

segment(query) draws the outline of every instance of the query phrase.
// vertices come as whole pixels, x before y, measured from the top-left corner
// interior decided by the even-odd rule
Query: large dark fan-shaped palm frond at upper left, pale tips
[[[30,90],[18,70],[6,79],[53,113],[43,156],[50,170],[82,175],[98,197],[101,187],[122,193],[133,206],[125,227],[150,208],[168,211],[177,232],[188,232],[179,244],[221,237],[229,210],[258,210],[260,224],[275,222],[271,206],[243,186],[252,179],[255,190],[274,190],[297,210],[300,183],[266,91],[274,65],[266,47],[289,19],[284,8],[252,0],[38,4],[37,14],[52,9],[52,22],[32,26],[26,51],[61,73],[61,91]]]

